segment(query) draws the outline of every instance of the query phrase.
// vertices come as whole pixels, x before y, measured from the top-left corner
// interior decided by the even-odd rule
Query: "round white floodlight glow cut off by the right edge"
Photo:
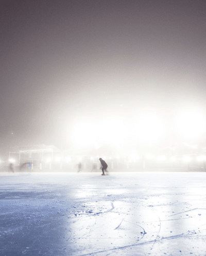
[[[205,132],[205,118],[197,111],[184,111],[178,118],[175,125],[177,132],[187,138],[196,138]]]

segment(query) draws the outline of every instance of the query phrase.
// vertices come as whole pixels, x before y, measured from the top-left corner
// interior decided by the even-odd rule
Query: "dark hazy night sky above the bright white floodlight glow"
[[[70,147],[82,121],[206,112],[204,0],[5,0],[0,19],[2,154]]]

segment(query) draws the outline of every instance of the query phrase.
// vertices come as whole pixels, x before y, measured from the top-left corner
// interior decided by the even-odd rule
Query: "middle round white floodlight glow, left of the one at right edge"
[[[134,127],[134,138],[144,142],[156,142],[164,133],[162,120],[158,116],[152,114],[140,116]]]

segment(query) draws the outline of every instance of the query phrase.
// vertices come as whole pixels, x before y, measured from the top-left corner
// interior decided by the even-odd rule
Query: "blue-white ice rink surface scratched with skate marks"
[[[206,255],[206,173],[0,173],[0,255]]]

